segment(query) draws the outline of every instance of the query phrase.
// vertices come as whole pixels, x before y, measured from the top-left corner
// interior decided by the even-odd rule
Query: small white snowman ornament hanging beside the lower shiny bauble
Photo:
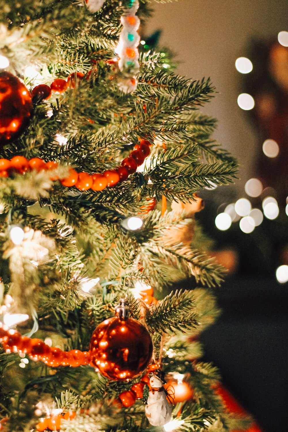
[[[164,374],[160,370],[151,373],[150,391],[145,407],[146,417],[152,426],[163,426],[171,420],[173,405],[167,400]]]

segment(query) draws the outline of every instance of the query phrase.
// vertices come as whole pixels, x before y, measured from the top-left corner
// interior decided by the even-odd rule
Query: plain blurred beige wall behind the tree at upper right
[[[237,57],[245,57],[251,37],[269,39],[288,30],[287,0],[179,0],[151,2],[154,14],[146,34],[161,29],[160,45],[171,48],[181,62],[178,73],[200,79],[210,76],[219,94],[203,112],[218,119],[214,137],[237,157],[243,195],[253,176],[257,137],[247,113],[237,105]],[[242,192],[241,192],[242,191]]]

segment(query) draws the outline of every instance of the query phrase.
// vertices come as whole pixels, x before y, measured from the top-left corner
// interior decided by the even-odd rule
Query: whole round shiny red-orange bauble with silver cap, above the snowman
[[[109,318],[94,330],[90,355],[92,364],[102,375],[123,381],[146,369],[152,356],[152,340],[139,321]]]

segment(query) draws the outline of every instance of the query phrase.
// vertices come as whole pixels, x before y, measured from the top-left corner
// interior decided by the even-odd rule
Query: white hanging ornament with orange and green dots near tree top
[[[139,71],[138,45],[140,36],[137,33],[140,20],[136,16],[139,8],[138,0],[129,0],[129,9],[121,16],[123,28],[120,32],[116,53],[120,57],[118,66],[123,76],[119,79],[118,86],[124,93],[132,93],[137,88],[136,75]]]

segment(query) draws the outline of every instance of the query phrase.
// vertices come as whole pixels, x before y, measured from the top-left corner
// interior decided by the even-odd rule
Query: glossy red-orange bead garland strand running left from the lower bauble
[[[88,365],[90,352],[72,349],[62,351],[60,348],[49,346],[41,339],[22,336],[18,331],[8,329],[0,323],[0,342],[7,353],[25,353],[33,360],[41,360],[51,367]]]

